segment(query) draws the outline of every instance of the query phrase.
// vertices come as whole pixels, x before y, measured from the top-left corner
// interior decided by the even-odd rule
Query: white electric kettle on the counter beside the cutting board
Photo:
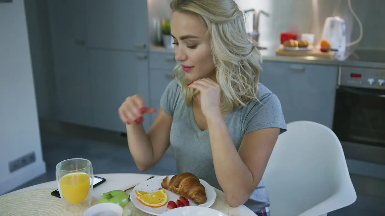
[[[328,17],[322,30],[321,40],[330,43],[332,49],[338,52],[346,51],[346,26],[345,20],[340,17]]]

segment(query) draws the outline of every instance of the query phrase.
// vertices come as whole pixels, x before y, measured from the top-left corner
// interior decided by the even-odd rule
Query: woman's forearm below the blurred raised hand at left
[[[154,151],[143,125],[126,125],[127,141],[136,166],[145,171],[154,165]]]

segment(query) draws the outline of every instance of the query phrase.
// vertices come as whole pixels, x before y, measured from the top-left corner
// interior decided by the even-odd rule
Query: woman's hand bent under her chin
[[[222,118],[221,105],[221,86],[213,80],[204,78],[196,80],[187,85],[189,88],[195,88],[201,92],[201,110],[207,118]]]

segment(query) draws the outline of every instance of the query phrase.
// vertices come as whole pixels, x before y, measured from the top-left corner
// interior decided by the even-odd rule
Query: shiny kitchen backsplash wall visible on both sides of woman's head
[[[149,32],[152,32],[152,18],[170,18],[171,0],[148,0],[149,2]],[[261,15],[259,42],[262,45],[275,44],[280,41],[280,33],[296,30],[300,33],[314,33],[316,42],[319,41],[326,17],[340,16],[345,19],[347,41],[355,41],[359,37],[359,26],[348,8],[348,0],[235,0],[241,10],[254,8],[265,10],[269,17]],[[356,48],[385,49],[385,14],[380,8],[385,8],[383,0],[352,0],[352,8],[363,25],[362,41],[353,46]],[[252,17],[246,15],[246,28],[251,31]],[[351,33],[351,34],[350,34]],[[350,36],[352,35],[352,36]]]

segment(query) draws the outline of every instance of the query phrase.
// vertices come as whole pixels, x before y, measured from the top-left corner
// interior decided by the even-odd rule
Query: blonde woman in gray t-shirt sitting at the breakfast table
[[[155,112],[139,95],[119,108],[137,167],[152,168],[172,146],[178,173],[190,172],[268,215],[261,182],[278,135],[286,130],[280,101],[258,82],[261,55],[233,0],[173,0],[175,80],[164,91],[148,133],[141,122]]]

